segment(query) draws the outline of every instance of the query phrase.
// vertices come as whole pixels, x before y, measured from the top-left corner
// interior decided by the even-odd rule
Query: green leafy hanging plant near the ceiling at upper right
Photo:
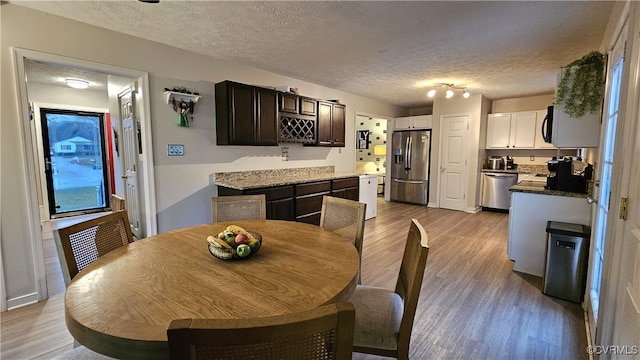
[[[556,104],[562,104],[571,117],[581,117],[585,113],[600,109],[604,94],[605,56],[592,51],[571,64],[565,70],[558,84]]]

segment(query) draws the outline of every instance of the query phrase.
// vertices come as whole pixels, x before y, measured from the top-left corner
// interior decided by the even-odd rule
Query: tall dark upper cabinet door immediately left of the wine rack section
[[[256,127],[255,145],[278,145],[278,93],[275,90],[255,89]]]

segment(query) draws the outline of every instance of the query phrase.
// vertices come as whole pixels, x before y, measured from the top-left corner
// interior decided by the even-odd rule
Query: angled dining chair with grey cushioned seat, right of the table
[[[427,233],[412,219],[395,291],[358,285],[349,299],[356,307],[353,351],[409,358],[411,329],[428,254]]]

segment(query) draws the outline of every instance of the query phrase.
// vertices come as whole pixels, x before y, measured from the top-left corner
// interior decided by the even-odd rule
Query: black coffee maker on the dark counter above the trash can
[[[579,173],[576,174],[576,167]],[[572,158],[556,159],[553,157],[547,163],[549,176],[547,177],[547,186],[549,190],[559,190],[586,194],[588,191],[589,180],[593,175],[593,166],[591,164],[576,161]]]

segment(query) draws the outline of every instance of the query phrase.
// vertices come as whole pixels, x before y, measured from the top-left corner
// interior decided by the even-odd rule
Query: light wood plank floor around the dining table
[[[365,226],[363,284],[395,286],[411,218],[425,227],[430,245],[411,359],[588,359],[580,305],[545,296],[540,278],[512,271],[508,214],[467,214],[379,198],[377,217]],[[72,347],[51,239],[45,255],[50,298],[1,314],[2,359],[48,359]]]

